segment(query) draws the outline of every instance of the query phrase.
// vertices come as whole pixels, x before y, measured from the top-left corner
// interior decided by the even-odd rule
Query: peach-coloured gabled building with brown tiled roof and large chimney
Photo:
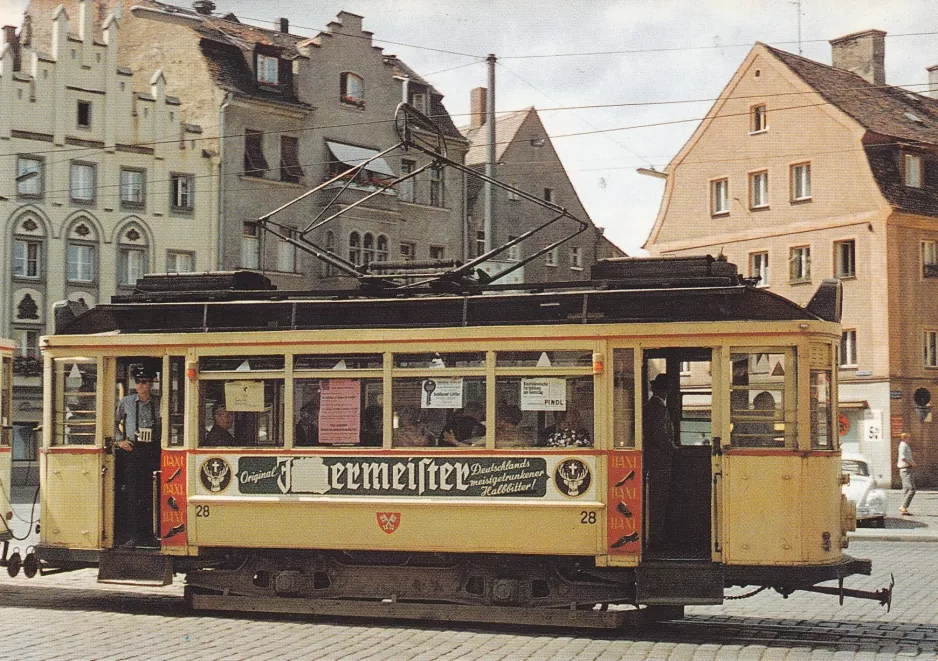
[[[843,283],[840,438],[898,484],[900,431],[938,484],[938,101],[885,84],[885,33],[828,66],[749,52],[667,168],[646,248],[722,253],[804,305]]]

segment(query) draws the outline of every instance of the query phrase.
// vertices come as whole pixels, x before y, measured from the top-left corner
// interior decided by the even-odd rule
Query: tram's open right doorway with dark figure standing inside
[[[643,352],[645,557],[710,560],[714,364],[709,347]]]

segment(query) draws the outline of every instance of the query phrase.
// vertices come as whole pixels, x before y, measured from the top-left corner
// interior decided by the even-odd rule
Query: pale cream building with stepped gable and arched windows
[[[147,272],[216,260],[215,165],[159,70],[117,63],[120,22],[45,18],[50,48],[4,30],[0,48],[0,335],[14,359],[16,459],[34,459],[42,407],[39,337],[62,299],[89,306],[132,290]],[[146,91],[142,91],[142,90]]]

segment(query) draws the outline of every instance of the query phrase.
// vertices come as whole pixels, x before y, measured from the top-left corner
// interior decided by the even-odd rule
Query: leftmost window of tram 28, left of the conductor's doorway
[[[93,358],[55,361],[53,445],[92,445],[97,428],[98,366]]]

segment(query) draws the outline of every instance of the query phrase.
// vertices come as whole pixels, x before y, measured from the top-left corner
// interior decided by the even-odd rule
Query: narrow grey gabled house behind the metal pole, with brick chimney
[[[462,130],[470,145],[466,154],[466,165],[482,172],[485,171],[488,159],[485,109],[486,90],[476,88],[472,92],[472,123]],[[603,237],[600,228],[593,225],[564,170],[563,163],[554,151],[537,110],[533,107],[496,118],[495,159],[496,176],[500,181],[558,204],[590,225],[585,232],[523,266],[519,269],[521,273],[509,274],[507,278],[516,282],[583,280],[590,277],[590,266],[597,258],[624,255]],[[485,246],[485,195],[482,183],[470,181],[467,192],[470,253],[479,255]],[[520,236],[549,220],[551,216],[547,209],[496,188],[492,246],[501,245]],[[524,255],[530,255],[568,236],[575,229],[576,224],[568,219],[558,221],[543,232],[502,253],[499,259],[510,265],[511,262],[522,259]]]

